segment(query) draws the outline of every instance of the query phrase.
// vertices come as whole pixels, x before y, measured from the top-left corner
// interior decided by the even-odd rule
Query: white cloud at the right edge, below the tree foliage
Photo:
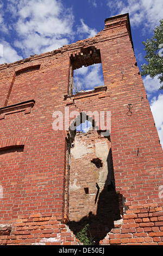
[[[160,143],[163,149],[163,94],[160,94],[158,98],[154,97],[151,103],[151,111],[155,121],[156,128],[160,137]]]

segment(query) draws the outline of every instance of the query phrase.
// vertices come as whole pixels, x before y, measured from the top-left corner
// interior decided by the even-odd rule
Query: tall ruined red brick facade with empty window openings
[[[104,86],[72,95],[71,71],[99,62]],[[162,148],[136,65],[128,15],[106,19],[93,38],[0,69],[1,244],[79,243],[67,222],[72,216],[68,132],[52,128],[53,112],[64,114],[69,107],[70,112],[111,112],[122,218],[112,220],[100,243],[161,245]]]

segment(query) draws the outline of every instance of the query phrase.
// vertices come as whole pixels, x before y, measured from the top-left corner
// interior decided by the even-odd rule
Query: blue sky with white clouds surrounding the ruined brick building
[[[65,44],[94,36],[104,29],[108,17],[129,13],[137,64],[145,63],[142,41],[153,36],[153,29],[162,19],[162,0],[0,0],[0,64],[12,63],[55,50]],[[162,42],[163,43],[163,42]],[[0,51],[1,52],[1,51]],[[78,71],[102,83],[99,66]],[[155,124],[163,147],[163,90],[160,83],[143,78]]]

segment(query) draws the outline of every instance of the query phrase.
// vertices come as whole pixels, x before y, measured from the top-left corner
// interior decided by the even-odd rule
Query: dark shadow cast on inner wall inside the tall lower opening
[[[118,202],[118,194],[115,191],[114,169],[112,164],[112,153],[109,150],[108,158],[108,175],[105,185],[99,191],[97,198],[97,213],[89,212],[88,216],[84,216],[80,221],[70,221],[67,225],[76,235],[82,230],[86,224],[89,224],[89,230],[95,245],[99,245],[99,241],[104,239],[107,233],[114,228],[114,221],[120,220],[120,206]]]

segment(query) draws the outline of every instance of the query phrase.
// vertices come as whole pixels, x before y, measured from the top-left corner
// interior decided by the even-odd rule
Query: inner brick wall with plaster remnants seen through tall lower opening
[[[96,244],[120,220],[111,143],[101,133],[78,132],[71,149],[68,225],[76,234],[86,224]]]

